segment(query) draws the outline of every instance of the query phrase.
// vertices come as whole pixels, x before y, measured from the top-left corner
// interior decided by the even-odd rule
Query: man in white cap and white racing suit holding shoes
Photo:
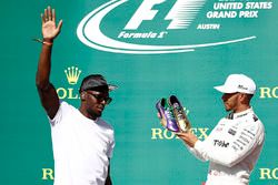
[[[195,156],[210,162],[206,185],[248,185],[265,141],[264,125],[250,106],[256,84],[244,74],[230,74],[215,89],[224,93],[228,116],[205,141],[191,132],[177,135]]]

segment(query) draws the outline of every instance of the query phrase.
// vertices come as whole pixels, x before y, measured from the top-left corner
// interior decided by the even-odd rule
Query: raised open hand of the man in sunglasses
[[[41,13],[41,31],[43,39],[53,40],[61,31],[62,20],[59,21],[56,27],[56,12],[54,9],[48,7],[44,9],[44,13]]]

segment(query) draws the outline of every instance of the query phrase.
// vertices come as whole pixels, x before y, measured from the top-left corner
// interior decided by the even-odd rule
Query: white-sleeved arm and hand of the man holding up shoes
[[[262,134],[259,124],[254,123],[251,126],[238,129],[235,135],[228,132],[219,134],[212,131],[203,142],[199,141],[192,133],[181,133],[178,136],[193,148],[197,156],[231,167],[249,155],[257,145],[261,144],[259,138]],[[207,142],[208,140],[209,142]]]

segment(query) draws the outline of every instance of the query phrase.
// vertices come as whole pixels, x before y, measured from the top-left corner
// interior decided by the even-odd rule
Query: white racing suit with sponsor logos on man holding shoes
[[[206,185],[248,185],[265,141],[265,129],[252,109],[221,119],[190,152],[209,161]]]

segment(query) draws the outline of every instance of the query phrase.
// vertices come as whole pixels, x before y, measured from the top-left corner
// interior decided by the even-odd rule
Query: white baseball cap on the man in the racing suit
[[[254,80],[245,74],[230,74],[224,85],[215,86],[221,93],[241,92],[246,94],[255,94],[256,84]]]

